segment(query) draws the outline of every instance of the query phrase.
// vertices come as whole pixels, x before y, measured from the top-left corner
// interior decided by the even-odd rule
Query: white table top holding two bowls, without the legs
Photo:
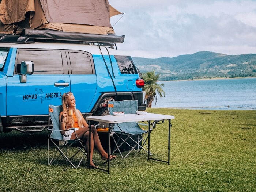
[[[133,122],[133,121],[151,121],[151,120],[162,120],[162,119],[174,119],[172,115],[162,115],[147,113],[146,115],[138,114],[124,114],[123,116],[114,115],[102,115],[102,116],[87,116],[86,120],[93,120],[111,124],[123,123],[123,122]]]

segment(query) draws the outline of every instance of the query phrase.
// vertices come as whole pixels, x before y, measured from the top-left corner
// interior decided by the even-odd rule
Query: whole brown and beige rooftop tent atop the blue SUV
[[[110,17],[121,14],[108,0],[0,0],[0,33],[24,28],[114,34]]]

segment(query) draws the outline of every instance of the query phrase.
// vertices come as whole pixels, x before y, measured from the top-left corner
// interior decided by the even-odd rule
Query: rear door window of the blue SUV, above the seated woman
[[[91,58],[84,53],[69,52],[72,74],[93,74]]]

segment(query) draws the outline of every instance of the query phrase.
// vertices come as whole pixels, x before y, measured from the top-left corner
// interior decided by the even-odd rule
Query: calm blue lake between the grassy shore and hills
[[[159,81],[165,97],[154,108],[256,110],[256,78]],[[229,105],[229,108],[228,108]]]

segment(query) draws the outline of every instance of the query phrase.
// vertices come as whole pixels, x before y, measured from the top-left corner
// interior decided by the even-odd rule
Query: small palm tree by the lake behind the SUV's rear
[[[160,74],[155,74],[155,71],[149,71],[142,74],[142,77],[145,81],[145,86],[143,88],[143,92],[145,93],[144,102],[147,101],[147,107],[152,107],[152,102],[155,99],[155,105],[157,104],[157,93],[160,97],[165,97],[165,92],[162,87],[163,83],[157,84],[158,78]]]

